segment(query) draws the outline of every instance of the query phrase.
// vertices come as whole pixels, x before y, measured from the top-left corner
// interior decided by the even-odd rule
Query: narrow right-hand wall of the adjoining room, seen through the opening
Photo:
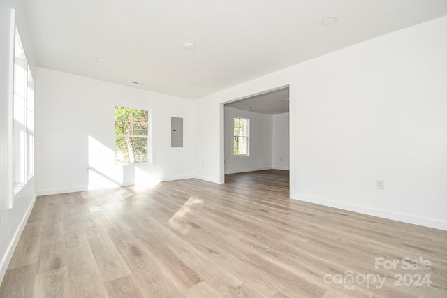
[[[273,115],[272,168],[290,170],[289,113]]]

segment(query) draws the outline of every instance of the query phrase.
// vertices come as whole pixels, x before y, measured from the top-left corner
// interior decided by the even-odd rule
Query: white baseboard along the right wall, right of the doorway
[[[393,221],[401,221],[403,223],[411,223],[413,225],[422,225],[427,228],[434,228],[439,230],[447,230],[447,221],[437,218],[427,218],[423,216],[416,216],[413,214],[402,214],[395,211],[389,211],[384,209],[377,209],[372,207],[364,207],[356,204],[346,204],[344,202],[337,202],[332,200],[325,200],[321,198],[314,198],[308,195],[294,194],[292,199],[301,200],[304,202],[310,202],[314,204],[320,204],[323,206],[334,207],[337,209],[343,209],[347,211],[353,211],[360,214],[367,214],[380,218],[386,218]]]

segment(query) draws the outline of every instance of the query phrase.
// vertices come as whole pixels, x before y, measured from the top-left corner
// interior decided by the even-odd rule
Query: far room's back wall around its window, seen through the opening
[[[249,156],[233,156],[233,119],[250,119]],[[272,168],[272,115],[225,107],[225,173]]]

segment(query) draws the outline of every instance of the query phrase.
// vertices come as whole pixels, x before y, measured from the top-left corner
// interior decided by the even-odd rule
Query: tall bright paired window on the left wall
[[[13,187],[14,193],[34,174],[34,80],[15,29],[13,75]]]

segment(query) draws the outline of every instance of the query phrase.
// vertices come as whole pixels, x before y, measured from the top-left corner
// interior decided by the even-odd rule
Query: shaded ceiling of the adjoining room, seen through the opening
[[[233,101],[225,106],[263,114],[283,114],[288,112],[288,94],[289,88],[286,87]]]

